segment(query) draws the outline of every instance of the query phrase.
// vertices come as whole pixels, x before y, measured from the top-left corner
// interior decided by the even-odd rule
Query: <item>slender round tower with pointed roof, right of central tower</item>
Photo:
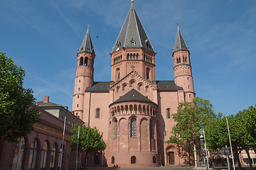
[[[185,93],[185,101],[191,102],[193,98],[195,98],[195,91],[191,71],[190,52],[179,28],[177,30],[172,56],[174,58],[175,84],[177,86],[183,87]]]

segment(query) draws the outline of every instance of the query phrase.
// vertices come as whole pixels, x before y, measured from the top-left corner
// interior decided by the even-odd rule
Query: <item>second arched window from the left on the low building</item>
[[[31,149],[30,149],[29,159],[28,159],[28,169],[36,168],[37,152],[38,152],[38,141],[35,138],[31,143]]]

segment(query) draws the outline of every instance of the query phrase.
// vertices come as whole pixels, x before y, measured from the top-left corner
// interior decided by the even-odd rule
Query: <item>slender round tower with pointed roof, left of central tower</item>
[[[75,75],[75,90],[73,95],[73,113],[81,118],[83,112],[84,92],[87,87],[92,86],[94,73],[95,52],[90,38],[89,28],[85,38],[82,40],[82,45],[78,50],[78,67]]]

